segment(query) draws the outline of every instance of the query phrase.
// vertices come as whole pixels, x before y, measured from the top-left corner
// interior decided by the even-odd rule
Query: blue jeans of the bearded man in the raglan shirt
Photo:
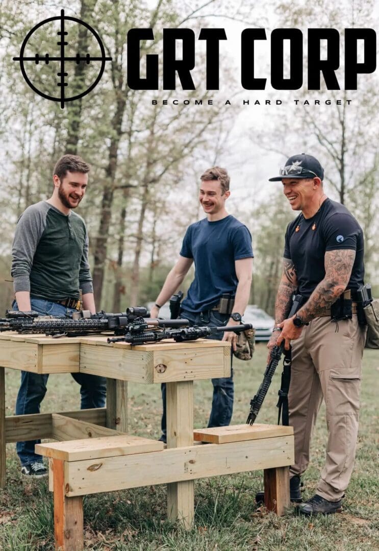
[[[41,315],[64,316],[74,311],[57,302],[44,299],[31,299],[31,309]],[[14,310],[18,310],[17,302],[13,302]],[[102,408],[105,406],[106,378],[84,373],[72,373],[75,381],[80,385],[80,409]],[[40,404],[46,394],[48,374],[39,375],[29,371],[21,371],[21,386],[16,401],[16,415],[40,413]],[[34,461],[42,461],[42,457],[34,452],[35,444],[41,440],[17,442],[16,449],[21,465]]]

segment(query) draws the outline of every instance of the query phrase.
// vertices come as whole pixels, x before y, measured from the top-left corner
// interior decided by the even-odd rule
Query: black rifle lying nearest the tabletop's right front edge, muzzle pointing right
[[[172,320],[181,322],[183,320]],[[172,331],[145,331],[141,333],[127,333],[123,337],[108,338],[109,343],[124,342],[129,344],[144,344],[151,342],[159,342],[164,339],[174,339],[176,342],[196,341],[209,337],[214,333],[221,333],[226,331],[234,331],[240,333],[246,331],[246,329],[252,329],[251,323],[245,323],[244,325],[229,325],[221,327],[187,327],[185,329],[173,329]]]

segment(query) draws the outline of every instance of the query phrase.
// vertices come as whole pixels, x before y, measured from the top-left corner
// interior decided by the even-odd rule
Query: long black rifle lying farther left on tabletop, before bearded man
[[[67,317],[39,316],[37,312],[7,310],[7,317],[0,319],[1,331],[19,333],[45,333],[53,337],[77,337],[112,331],[115,335],[142,332],[151,326],[177,327],[188,325],[188,320],[150,320],[149,311],[141,306],[127,308],[126,312],[107,314],[104,311],[73,312]],[[145,319],[145,317],[148,319]]]

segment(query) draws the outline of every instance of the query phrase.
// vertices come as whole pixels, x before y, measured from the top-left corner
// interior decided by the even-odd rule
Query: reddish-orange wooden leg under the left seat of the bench
[[[54,469],[54,533],[59,551],[82,551],[83,498],[66,498],[64,461],[53,460]]]

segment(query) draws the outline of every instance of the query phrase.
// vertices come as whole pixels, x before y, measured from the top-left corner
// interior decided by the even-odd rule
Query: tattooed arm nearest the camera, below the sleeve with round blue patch
[[[346,289],[355,260],[355,251],[335,249],[325,253],[325,277],[317,285],[298,314],[305,322],[330,308]]]

